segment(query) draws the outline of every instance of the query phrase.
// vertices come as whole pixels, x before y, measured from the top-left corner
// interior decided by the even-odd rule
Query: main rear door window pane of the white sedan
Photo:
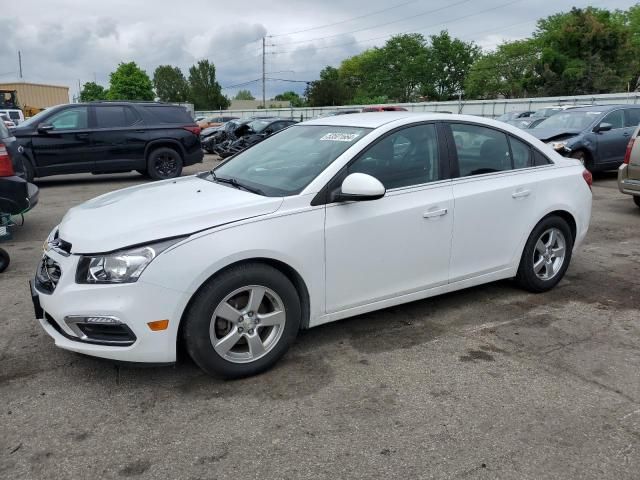
[[[492,128],[452,123],[461,177],[511,170],[507,136]]]

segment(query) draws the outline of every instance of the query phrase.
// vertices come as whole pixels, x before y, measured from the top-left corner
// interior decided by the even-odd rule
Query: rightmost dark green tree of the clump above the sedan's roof
[[[426,55],[423,95],[436,100],[450,100],[464,91],[464,83],[481,50],[473,42],[451,38],[446,30],[431,35]]]

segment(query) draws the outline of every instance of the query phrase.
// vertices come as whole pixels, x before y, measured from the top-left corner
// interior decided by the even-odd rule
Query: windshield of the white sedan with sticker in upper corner
[[[214,169],[270,197],[300,193],[370,128],[298,125],[282,130]],[[207,177],[214,181],[213,176]]]

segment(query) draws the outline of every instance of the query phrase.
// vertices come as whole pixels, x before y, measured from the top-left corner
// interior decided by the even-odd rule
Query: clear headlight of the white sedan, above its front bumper
[[[83,256],[78,262],[76,283],[133,283],[154,258],[180,240],[172,238],[104,255]]]

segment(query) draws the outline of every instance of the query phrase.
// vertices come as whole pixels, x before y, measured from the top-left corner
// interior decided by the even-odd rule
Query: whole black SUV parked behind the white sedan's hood
[[[29,180],[66,173],[137,170],[160,180],[202,162],[200,127],[179,105],[91,102],[58,105],[12,129]]]

